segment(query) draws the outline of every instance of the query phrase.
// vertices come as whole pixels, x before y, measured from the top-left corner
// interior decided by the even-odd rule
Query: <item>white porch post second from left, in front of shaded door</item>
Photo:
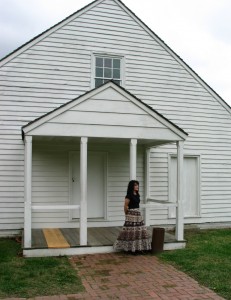
[[[80,245],[87,245],[87,137],[80,145]]]

